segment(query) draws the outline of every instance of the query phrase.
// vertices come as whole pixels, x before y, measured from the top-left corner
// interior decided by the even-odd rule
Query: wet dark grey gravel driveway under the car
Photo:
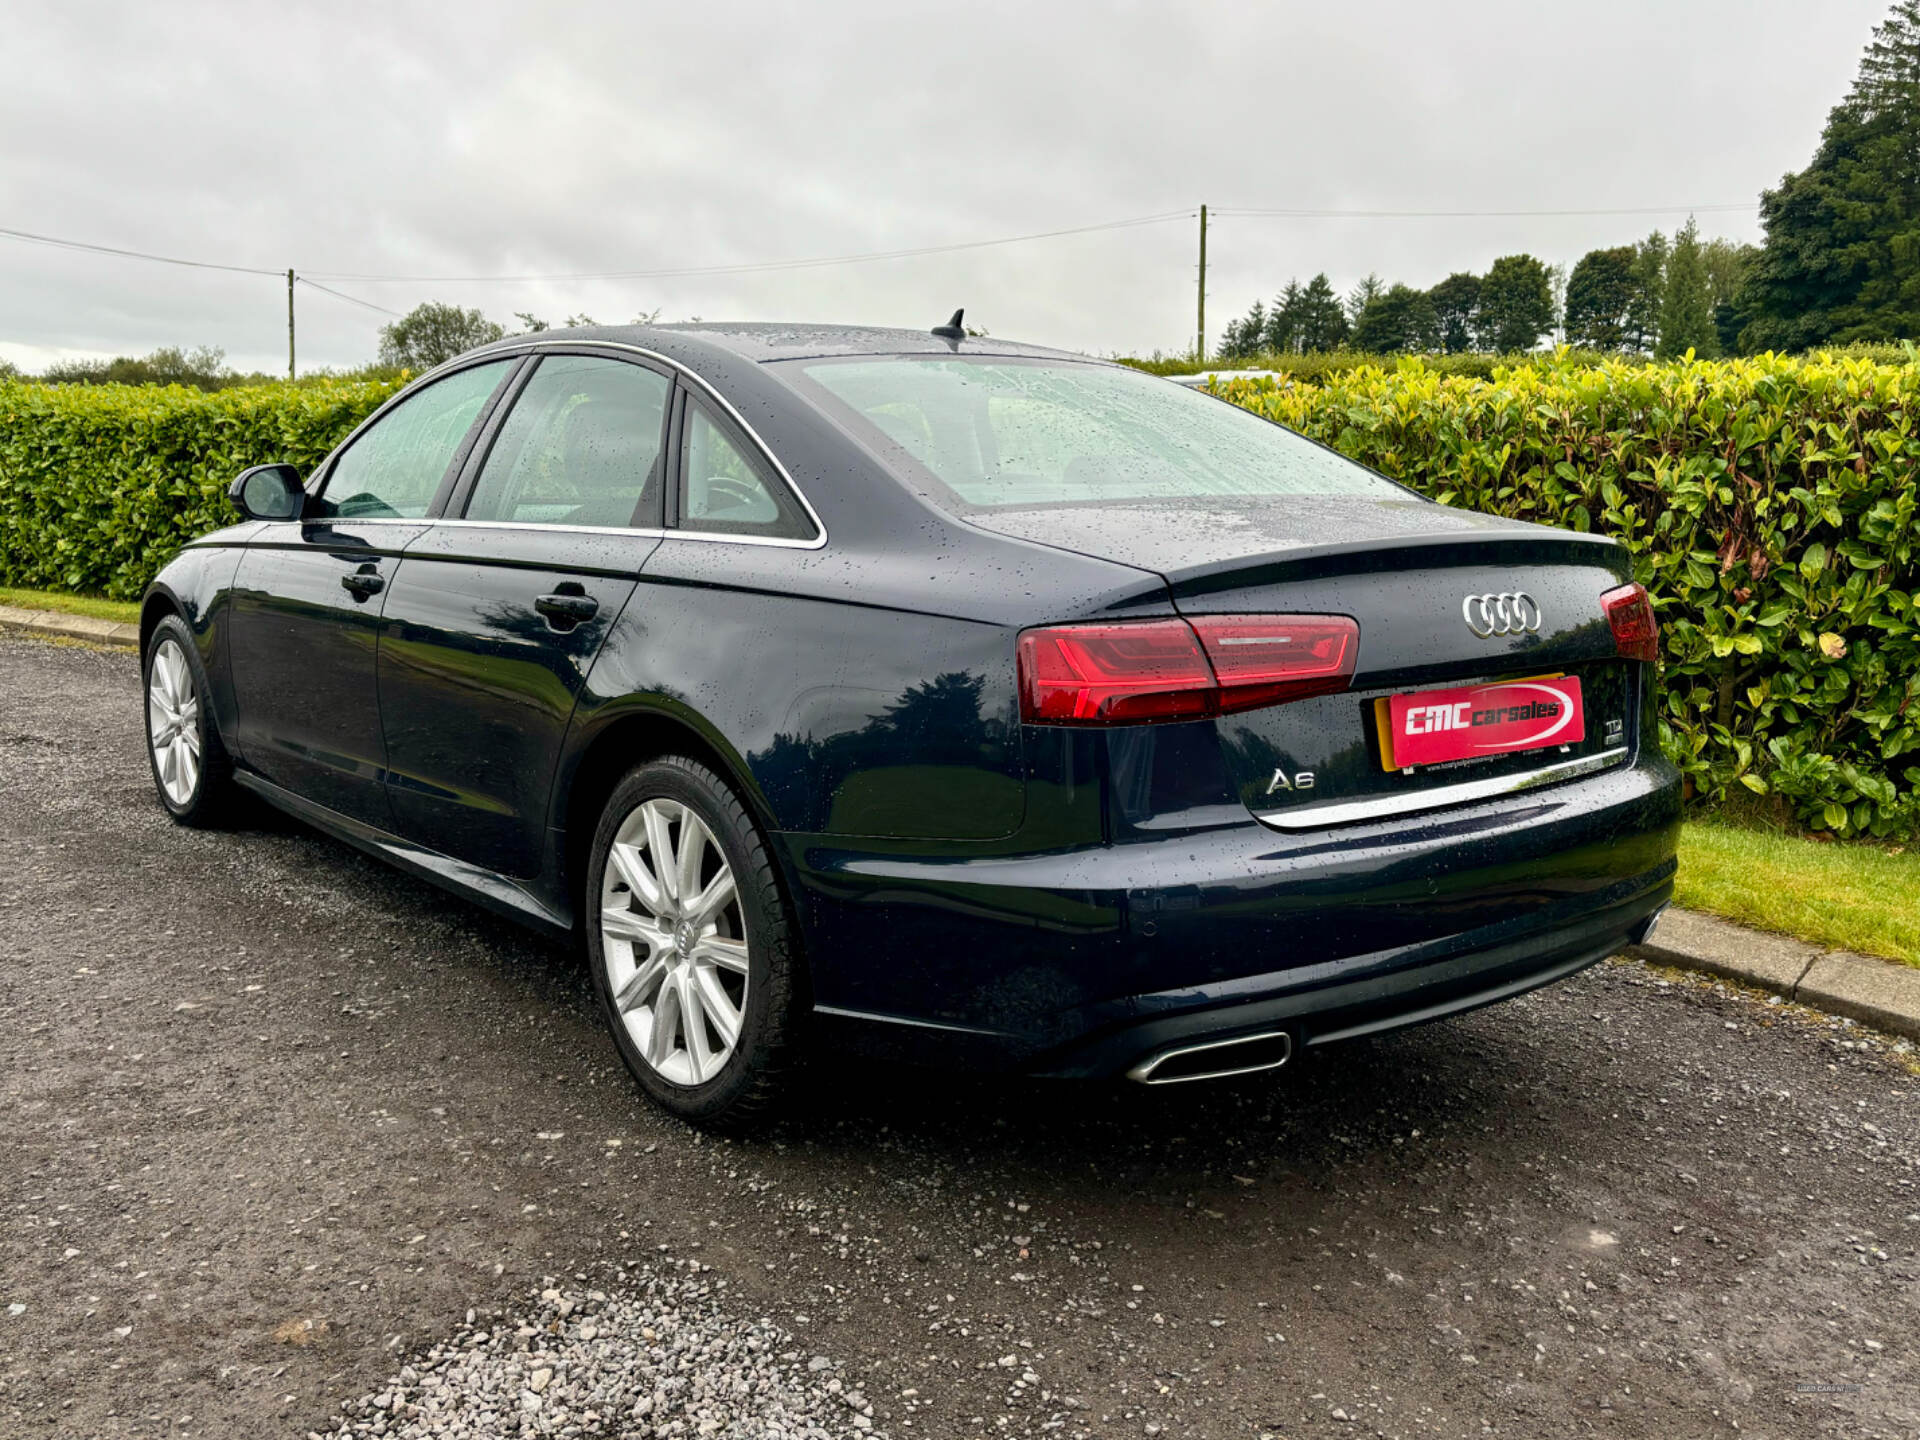
[[[722,1142],[568,950],[177,829],[138,732],[131,657],[0,639],[0,1434],[1920,1430],[1866,1031],[1609,964],[1236,1085],[824,1064]]]

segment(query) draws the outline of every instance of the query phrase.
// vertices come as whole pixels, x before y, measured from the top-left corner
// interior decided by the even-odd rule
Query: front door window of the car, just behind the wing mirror
[[[328,513],[417,520],[434,503],[474,417],[515,361],[472,365],[382,415],[334,461]]]

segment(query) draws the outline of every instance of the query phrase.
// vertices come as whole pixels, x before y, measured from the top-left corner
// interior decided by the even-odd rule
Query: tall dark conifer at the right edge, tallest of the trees
[[[1920,0],[1874,31],[1807,169],[1761,194],[1741,349],[1920,336]]]

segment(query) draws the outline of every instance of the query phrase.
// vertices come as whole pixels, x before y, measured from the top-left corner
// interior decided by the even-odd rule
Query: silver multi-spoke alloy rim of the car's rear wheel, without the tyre
[[[747,1014],[747,925],[720,843],[680,801],[643,801],[614,831],[601,956],[647,1066],[674,1085],[718,1075]]]

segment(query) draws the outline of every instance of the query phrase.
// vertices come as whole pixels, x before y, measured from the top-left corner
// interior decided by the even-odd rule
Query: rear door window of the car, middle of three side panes
[[[651,524],[670,396],[672,382],[641,365],[547,355],[499,428],[467,518]]]

